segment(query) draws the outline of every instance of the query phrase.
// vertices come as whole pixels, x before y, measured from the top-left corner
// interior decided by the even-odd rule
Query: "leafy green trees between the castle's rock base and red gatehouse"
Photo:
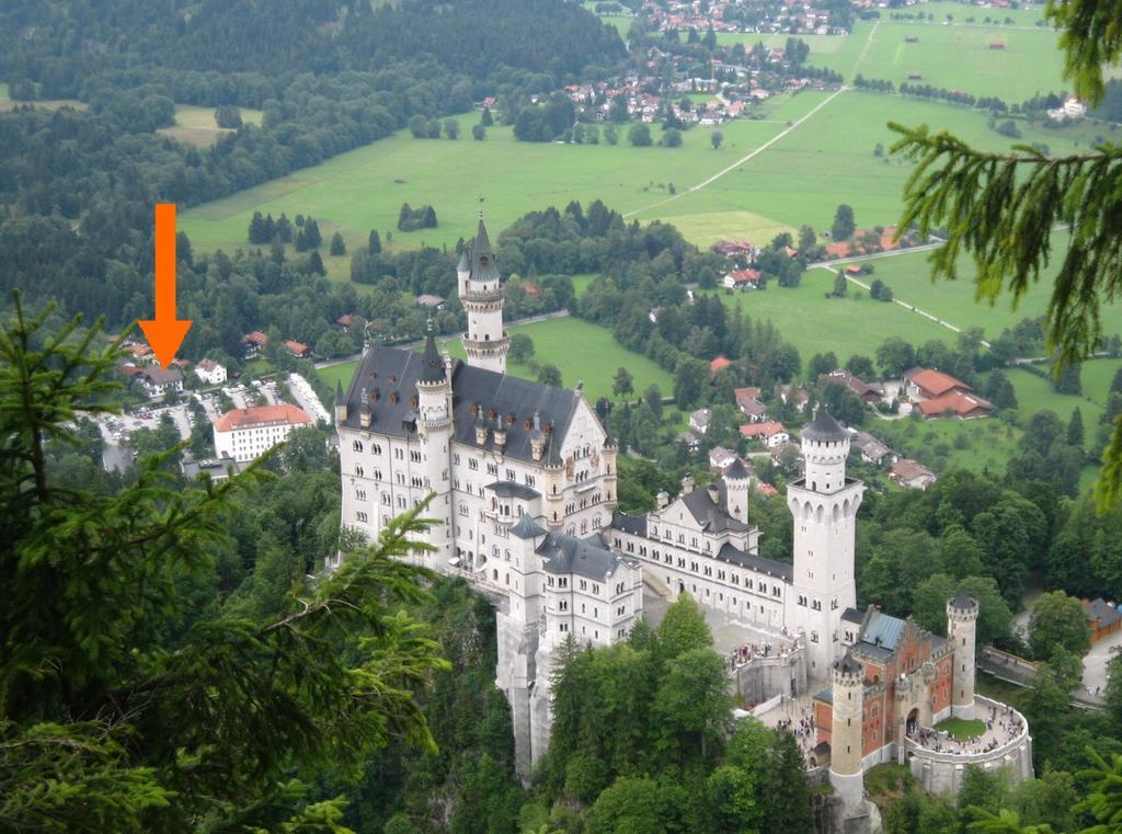
[[[523,831],[815,830],[794,736],[734,722],[725,659],[682,595],[657,629],[582,649],[553,675],[550,749]]]

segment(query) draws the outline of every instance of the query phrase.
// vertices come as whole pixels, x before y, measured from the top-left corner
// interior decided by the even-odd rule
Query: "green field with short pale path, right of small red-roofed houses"
[[[861,293],[861,299],[853,288],[844,299],[827,299],[826,293],[833,287],[834,275],[825,269],[810,269],[803,273],[794,288],[772,282],[763,291],[717,292],[730,310],[739,303],[741,310],[753,321],[771,321],[783,338],[799,349],[803,366],[815,354],[828,350],[833,350],[842,363],[854,354],[872,357],[890,336],[919,343],[930,339],[948,342],[954,339],[951,331],[929,319],[910,313],[899,304],[874,301],[865,292]]]

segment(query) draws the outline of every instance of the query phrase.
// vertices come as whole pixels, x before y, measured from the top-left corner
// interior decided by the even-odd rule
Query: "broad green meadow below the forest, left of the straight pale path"
[[[603,199],[618,211],[664,200],[670,185],[682,189],[711,176],[798,118],[813,97],[800,94],[769,110],[773,121],[738,120],[721,128],[725,144],[709,145],[709,130],[687,131],[680,148],[635,148],[620,144],[558,145],[521,143],[508,127],[488,129],[484,141],[470,138],[477,113],[459,117],[460,138],[414,139],[408,131],[357,148],[322,165],[298,171],[223,200],[195,207],[180,217],[180,227],[202,250],[246,246],[255,210],[312,216],[330,237],[338,229],[349,246],[361,245],[371,228],[390,247],[453,245],[472,231],[479,195],[493,230],[502,230],[528,211],[586,205]],[[818,99],[820,100],[820,98]],[[653,128],[657,140],[660,130]],[[601,130],[603,134],[603,130]],[[402,203],[431,204],[440,226],[414,232],[396,230]],[[774,221],[770,222],[775,226]]]

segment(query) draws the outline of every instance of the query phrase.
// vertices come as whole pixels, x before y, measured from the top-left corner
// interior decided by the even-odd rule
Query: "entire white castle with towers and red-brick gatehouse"
[[[810,681],[830,684],[813,697],[813,763],[828,762],[847,807],[863,804],[864,770],[893,759],[910,761],[932,790],[957,788],[967,760],[1031,773],[1023,718],[974,694],[977,603],[948,603],[946,640],[856,610],[865,487],[846,476],[849,434],[834,418],[822,413],[801,432],[806,468],[787,491],[791,562],[760,556],[739,462],[703,488],[687,476],[682,494],[660,494],[652,512],[617,512],[616,445],[583,395],[505,373],[503,285],[482,219],[457,288],[467,363],[442,356],[430,332],[422,352],[368,347],[349,389],[337,389],[342,523],[374,539],[432,495],[425,515],[439,524],[425,540],[434,549],[415,558],[467,578],[496,604],[496,684],[511,703],[519,772],[549,742],[559,647],[569,636],[592,645],[625,639],[646,586],[669,598],[688,592],[791,644],[757,665],[766,673],[752,684],[752,700],[809,697]],[[949,740],[944,749],[935,723],[980,709],[1021,732],[987,739],[985,750],[951,750]]]

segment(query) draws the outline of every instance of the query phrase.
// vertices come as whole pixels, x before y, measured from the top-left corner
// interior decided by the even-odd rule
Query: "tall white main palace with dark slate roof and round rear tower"
[[[467,363],[442,357],[430,332],[423,354],[369,347],[337,388],[342,523],[374,539],[433,495],[435,550],[417,558],[507,599],[498,685],[525,773],[549,739],[553,648],[625,635],[641,572],[596,537],[616,503],[616,446],[596,412],[580,392],[505,373],[503,287],[481,220],[457,273]]]

